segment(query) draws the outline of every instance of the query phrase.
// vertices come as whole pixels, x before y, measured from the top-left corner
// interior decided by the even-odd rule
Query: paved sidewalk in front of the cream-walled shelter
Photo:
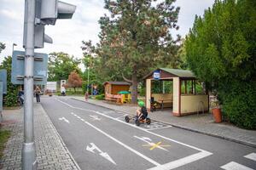
[[[84,101],[84,97],[73,97],[73,99]],[[94,99],[89,99],[87,102],[93,105],[100,105],[112,110],[123,111],[127,114],[136,115],[137,106],[115,105],[112,102]],[[149,116],[154,121],[165,122],[174,127],[180,127],[197,133],[205,133],[207,135],[256,147],[255,130],[241,129],[227,122],[215,123],[213,122],[212,115],[209,113],[179,117],[172,116],[170,110],[163,110],[155,111],[153,113],[150,112]]]

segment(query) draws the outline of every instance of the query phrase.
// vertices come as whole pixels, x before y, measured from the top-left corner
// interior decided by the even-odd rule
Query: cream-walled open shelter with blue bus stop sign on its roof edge
[[[196,92],[196,77],[191,71],[159,68],[143,77],[146,80],[146,106],[151,107],[151,101],[158,102],[161,108],[171,106],[174,116],[183,116],[209,110],[209,96],[206,92]],[[172,93],[152,94],[153,81],[172,81]]]

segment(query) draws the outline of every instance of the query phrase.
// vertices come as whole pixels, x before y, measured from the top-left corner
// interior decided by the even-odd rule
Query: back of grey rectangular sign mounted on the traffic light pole
[[[13,84],[24,83],[24,51],[14,51],[12,59],[12,78]],[[35,53],[34,56],[34,84],[45,85],[47,82],[48,54]]]

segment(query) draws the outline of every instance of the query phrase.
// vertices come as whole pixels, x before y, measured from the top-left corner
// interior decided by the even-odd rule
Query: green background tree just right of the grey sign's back
[[[72,71],[76,71],[79,74],[79,59],[75,59],[73,56],[65,53],[51,53],[49,54],[48,62],[48,80],[60,81],[61,79],[67,80],[68,75]]]

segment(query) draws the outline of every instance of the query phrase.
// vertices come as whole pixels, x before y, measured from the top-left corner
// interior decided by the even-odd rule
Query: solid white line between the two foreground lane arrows
[[[113,137],[112,137],[111,135],[109,135],[108,133],[103,132],[100,128],[95,127],[94,125],[90,124],[90,122],[85,122],[85,123],[86,123],[87,125],[89,125],[90,127],[95,128],[98,132],[104,134],[104,135],[107,136],[109,139],[112,139],[112,140],[115,141],[116,143],[118,143],[118,144],[124,146],[127,150],[131,150],[133,153],[137,154],[138,156],[143,157],[143,159],[145,159],[145,160],[151,162],[151,163],[154,164],[155,166],[160,166],[160,163],[158,163],[158,162],[152,160],[152,159],[149,158],[148,156],[144,156],[142,153],[138,152],[137,150],[132,149],[130,146],[128,146],[128,145],[126,145],[126,144],[120,142],[118,139],[113,138]]]

